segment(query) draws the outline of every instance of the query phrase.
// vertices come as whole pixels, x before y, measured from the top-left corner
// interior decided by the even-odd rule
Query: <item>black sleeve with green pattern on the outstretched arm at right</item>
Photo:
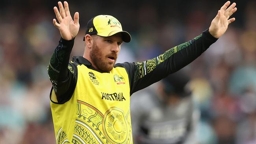
[[[160,81],[191,63],[217,41],[207,29],[191,41],[175,46],[165,53],[139,63],[122,63],[130,80],[130,94]]]

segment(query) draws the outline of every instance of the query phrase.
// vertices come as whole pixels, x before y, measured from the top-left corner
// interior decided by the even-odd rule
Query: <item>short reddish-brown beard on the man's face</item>
[[[100,48],[98,48],[95,42],[93,43],[90,57],[92,63],[96,66],[96,69],[100,70],[101,72],[110,72],[115,65],[115,62],[108,63],[103,60],[106,55],[102,55]]]

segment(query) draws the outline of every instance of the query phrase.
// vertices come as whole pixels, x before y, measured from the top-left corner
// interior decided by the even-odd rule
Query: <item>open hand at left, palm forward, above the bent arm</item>
[[[61,34],[61,37],[65,40],[71,40],[76,37],[78,31],[79,31],[79,13],[76,12],[74,14],[74,20],[72,20],[72,17],[70,16],[69,12],[69,5],[65,1],[64,6],[61,2],[58,2],[59,5],[59,11],[57,7],[54,7],[54,12],[56,14],[56,18],[58,19],[59,23],[56,21],[56,19],[53,19],[53,24],[56,28],[59,29],[59,32]]]

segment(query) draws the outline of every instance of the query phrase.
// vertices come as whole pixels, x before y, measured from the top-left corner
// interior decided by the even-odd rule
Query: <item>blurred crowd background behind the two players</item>
[[[1,0],[0,144],[55,144],[47,65],[60,38],[56,0]],[[119,62],[151,59],[209,28],[224,0],[76,0],[80,31],[71,54],[83,55],[85,25],[116,17],[132,41]],[[256,144],[256,1],[236,0],[236,21],[184,68],[199,112],[199,144]],[[152,86],[154,87],[154,86]],[[133,99],[132,96],[131,98]]]

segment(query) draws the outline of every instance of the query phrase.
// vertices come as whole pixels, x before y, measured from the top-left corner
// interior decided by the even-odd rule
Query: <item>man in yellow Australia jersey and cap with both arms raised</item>
[[[73,21],[68,3],[63,7],[58,2],[59,10],[54,7],[58,22],[53,19],[53,24],[61,39],[48,65],[57,144],[132,144],[130,96],[191,63],[217,41],[235,20],[229,17],[237,10],[236,4],[229,5],[226,2],[210,28],[191,41],[154,59],[115,64],[122,42],[130,42],[131,36],[110,15],[89,20],[84,54],[69,63],[79,14],[74,14]]]

